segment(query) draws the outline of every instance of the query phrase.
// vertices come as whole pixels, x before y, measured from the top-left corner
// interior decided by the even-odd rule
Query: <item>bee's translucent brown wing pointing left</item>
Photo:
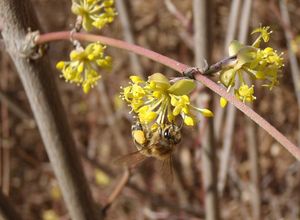
[[[147,158],[147,156],[141,153],[141,150],[138,150],[118,158],[115,163],[118,165],[126,165],[130,168],[134,168],[140,163],[144,162]]]

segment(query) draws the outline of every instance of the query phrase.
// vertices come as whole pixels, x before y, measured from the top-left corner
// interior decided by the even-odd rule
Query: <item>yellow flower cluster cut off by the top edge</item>
[[[117,15],[114,0],[73,0],[72,12],[82,17],[82,26],[87,31],[93,27],[103,28]]]

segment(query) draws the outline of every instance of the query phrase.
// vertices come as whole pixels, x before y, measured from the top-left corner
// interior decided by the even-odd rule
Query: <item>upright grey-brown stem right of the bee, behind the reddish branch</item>
[[[211,60],[212,4],[210,0],[193,1],[196,66],[202,66],[205,58],[208,62]],[[212,93],[210,95],[213,97]],[[212,107],[212,103],[213,101],[210,98],[209,108]],[[199,134],[199,137],[202,135],[202,181],[205,196],[205,219],[218,220],[220,219],[220,209],[217,190],[217,162],[213,120],[205,120],[205,122],[207,123],[207,129],[203,134]]]

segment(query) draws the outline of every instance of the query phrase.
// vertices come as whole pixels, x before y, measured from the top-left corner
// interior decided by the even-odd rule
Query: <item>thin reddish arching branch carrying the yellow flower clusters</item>
[[[145,57],[152,59],[156,62],[164,64],[180,73],[186,72],[187,69],[191,69],[193,67],[189,67],[185,64],[182,64],[176,60],[173,60],[169,57],[163,56],[154,51],[148,50],[146,48],[129,44],[121,40],[116,40],[113,38],[103,37],[99,35],[93,34],[83,34],[83,33],[74,33],[70,36],[70,32],[53,32],[48,34],[41,35],[36,43],[43,44],[50,41],[58,41],[58,40],[69,40],[70,37],[80,41],[88,41],[88,42],[96,42],[99,41],[103,44],[124,49]],[[269,122],[263,119],[260,115],[258,115],[251,108],[247,107],[243,102],[239,101],[234,95],[227,93],[226,90],[215,82],[205,77],[202,72],[198,68],[194,68],[194,76],[196,80],[204,84],[206,87],[211,89],[213,92],[227,99],[231,104],[233,104],[236,108],[242,111],[245,115],[247,115],[251,120],[257,123],[261,128],[266,130],[275,140],[277,140],[284,148],[286,148],[295,158],[300,160],[300,148],[290,142],[282,133],[280,133],[276,128],[274,128]]]

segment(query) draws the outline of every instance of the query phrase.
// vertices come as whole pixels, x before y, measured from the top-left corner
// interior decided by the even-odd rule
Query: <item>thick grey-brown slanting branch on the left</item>
[[[3,39],[17,68],[46,151],[73,220],[99,219],[47,58],[29,61],[19,50],[27,29],[38,29],[29,0],[1,0]]]

